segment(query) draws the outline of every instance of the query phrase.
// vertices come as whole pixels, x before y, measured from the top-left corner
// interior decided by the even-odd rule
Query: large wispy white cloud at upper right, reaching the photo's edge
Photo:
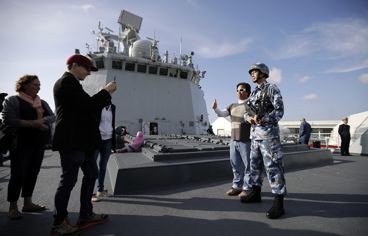
[[[329,61],[333,68],[326,73],[350,72],[368,68],[367,19],[343,18],[315,24],[298,35],[285,36],[278,58],[312,55]]]

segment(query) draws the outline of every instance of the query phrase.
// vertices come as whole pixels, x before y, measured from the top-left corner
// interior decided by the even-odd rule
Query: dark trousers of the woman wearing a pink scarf
[[[45,145],[18,146],[10,152],[10,180],[7,201],[17,201],[20,191],[22,191],[21,197],[32,197],[44,154]]]

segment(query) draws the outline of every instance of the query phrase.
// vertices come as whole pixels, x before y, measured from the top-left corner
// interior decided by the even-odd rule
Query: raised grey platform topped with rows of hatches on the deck
[[[134,136],[126,139],[132,141]],[[148,135],[141,151],[111,155],[112,192],[124,195],[183,184],[232,177],[230,137]],[[283,143],[285,168],[333,162],[329,150]],[[149,178],[147,178],[149,176]]]

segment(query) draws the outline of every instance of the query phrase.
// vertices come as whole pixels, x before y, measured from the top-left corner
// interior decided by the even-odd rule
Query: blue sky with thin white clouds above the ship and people
[[[160,53],[193,51],[207,71],[200,85],[211,103],[237,101],[250,65],[270,68],[283,96],[281,121],[339,120],[368,111],[367,0],[0,0],[0,91],[15,94],[24,74],[41,81],[40,97],[54,108],[52,87],[66,59],[95,43],[97,23],[119,32],[120,11],[143,18],[139,36],[160,40]],[[119,85],[118,85],[119,86]],[[124,86],[121,84],[121,86]],[[179,90],[180,88],[178,88]],[[149,98],[147,98],[149,99]]]

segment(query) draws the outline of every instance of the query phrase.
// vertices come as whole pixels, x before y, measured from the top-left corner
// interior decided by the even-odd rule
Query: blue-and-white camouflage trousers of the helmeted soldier
[[[265,172],[273,194],[287,195],[283,152],[279,138],[253,140],[250,150],[250,175],[252,185],[262,187]]]

